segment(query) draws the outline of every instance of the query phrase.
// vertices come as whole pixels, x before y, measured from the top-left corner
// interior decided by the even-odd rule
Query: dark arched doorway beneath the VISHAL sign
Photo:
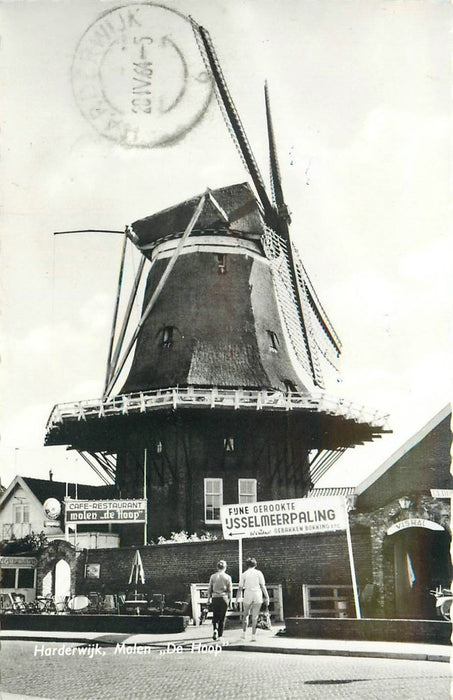
[[[386,549],[393,569],[395,617],[436,619],[430,591],[450,585],[449,533],[408,527],[391,534]]]

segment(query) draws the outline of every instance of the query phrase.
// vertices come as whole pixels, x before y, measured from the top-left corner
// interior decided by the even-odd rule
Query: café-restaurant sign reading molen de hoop
[[[146,499],[77,501],[65,498],[67,523],[144,523]]]

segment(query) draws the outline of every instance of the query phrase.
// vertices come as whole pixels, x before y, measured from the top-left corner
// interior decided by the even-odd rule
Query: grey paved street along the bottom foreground
[[[180,652],[170,646],[172,653],[161,653],[166,645],[124,653],[121,646],[3,641],[2,699],[9,693],[52,700],[450,697],[446,663],[225,651],[199,644],[185,641]]]

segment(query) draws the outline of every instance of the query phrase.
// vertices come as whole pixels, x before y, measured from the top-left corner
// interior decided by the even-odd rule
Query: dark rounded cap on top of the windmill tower
[[[254,237],[264,233],[259,205],[247,182],[221,187],[210,191],[210,194],[211,197],[206,198],[191,235],[207,230],[230,230],[235,234]],[[189,224],[202,196],[191,197],[181,204],[134,221],[130,228],[137,237],[137,245],[140,248],[149,247],[159,240],[181,234]]]

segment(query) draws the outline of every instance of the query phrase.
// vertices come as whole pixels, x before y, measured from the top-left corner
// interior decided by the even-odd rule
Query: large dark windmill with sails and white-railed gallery
[[[121,324],[115,312],[104,395],[55,406],[46,434],[121,497],[145,489],[148,539],[216,529],[223,503],[303,496],[348,447],[384,432],[324,392],[341,344],[290,239],[267,89],[271,197],[210,37],[194,31],[252,184],[126,228],[123,261],[132,243],[141,262]],[[122,541],[141,536],[129,527]]]

